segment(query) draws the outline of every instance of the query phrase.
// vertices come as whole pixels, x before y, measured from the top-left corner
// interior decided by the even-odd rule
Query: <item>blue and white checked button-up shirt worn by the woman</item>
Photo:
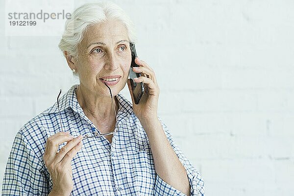
[[[74,136],[92,134],[97,129],[83,113],[75,96],[76,87],[74,85],[60,98],[64,131],[70,131]],[[105,137],[83,141],[82,149],[72,160],[74,185],[71,195],[184,196],[156,174],[147,135],[132,104],[122,95],[117,98],[119,130],[113,136],[112,144]],[[174,144],[164,123],[162,126],[186,169],[191,196],[203,196],[204,182],[199,172]],[[48,137],[60,130],[57,103],[21,128],[6,165],[2,196],[47,196],[50,193],[52,180],[43,154]]]

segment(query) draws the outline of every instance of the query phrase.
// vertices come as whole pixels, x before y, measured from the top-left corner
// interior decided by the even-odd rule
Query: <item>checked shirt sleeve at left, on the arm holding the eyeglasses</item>
[[[18,132],[4,173],[2,196],[47,196],[48,185],[43,164]]]

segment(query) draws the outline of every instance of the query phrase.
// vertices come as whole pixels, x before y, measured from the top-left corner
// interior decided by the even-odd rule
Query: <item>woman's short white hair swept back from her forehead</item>
[[[78,57],[78,45],[87,28],[91,25],[118,20],[126,27],[130,42],[136,42],[135,28],[123,9],[112,2],[86,3],[73,11],[72,17],[65,23],[65,30],[58,45],[61,51],[67,51]]]

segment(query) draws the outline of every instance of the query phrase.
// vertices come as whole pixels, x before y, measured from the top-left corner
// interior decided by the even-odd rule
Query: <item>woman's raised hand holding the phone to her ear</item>
[[[145,92],[138,104],[135,104],[133,91],[131,87],[130,79],[127,81],[127,85],[133,101],[133,110],[135,115],[139,118],[140,122],[152,122],[157,121],[157,105],[159,98],[159,87],[156,81],[154,71],[147,65],[146,62],[136,58],[135,63],[140,67],[133,68],[135,73],[141,73],[141,77],[134,79],[136,83],[143,82]]]

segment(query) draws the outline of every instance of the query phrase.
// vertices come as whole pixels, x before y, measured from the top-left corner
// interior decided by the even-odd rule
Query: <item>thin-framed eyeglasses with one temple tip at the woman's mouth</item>
[[[113,102],[113,97],[112,97],[111,89],[110,89],[110,87],[106,83],[104,83],[104,84],[109,89],[110,97],[111,97],[111,100],[112,100],[112,105],[113,105],[113,109],[114,109],[114,113],[115,113],[116,121],[115,121],[114,131],[111,131],[111,132],[108,132],[108,133],[99,133],[98,131],[95,131],[95,133],[92,136],[89,135],[89,134],[85,134],[83,136],[83,140],[84,139],[87,139],[87,138],[95,138],[95,137],[101,137],[101,136],[105,136],[105,135],[112,135],[112,134],[115,134],[118,131],[118,129],[119,129],[118,116],[117,116],[117,113],[116,113],[116,110],[115,110],[115,106],[114,106],[114,102]],[[62,127],[62,123],[61,123],[61,116],[60,116],[60,108],[59,108],[59,96],[60,96],[60,94],[61,94],[61,89],[60,89],[60,92],[59,92],[59,94],[57,96],[57,107],[58,107],[59,123],[60,123],[61,130],[63,132],[63,127]],[[116,127],[118,127],[118,129],[116,129]]]

